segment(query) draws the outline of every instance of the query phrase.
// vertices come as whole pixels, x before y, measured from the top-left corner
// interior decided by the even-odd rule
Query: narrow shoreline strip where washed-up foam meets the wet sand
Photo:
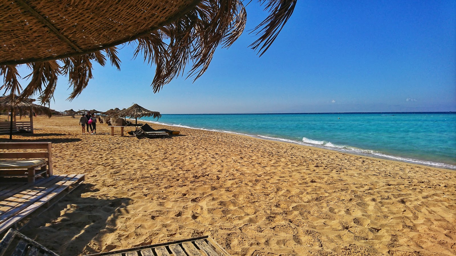
[[[130,119],[130,118],[127,118],[127,119],[128,120],[133,120],[133,121],[135,120],[135,119]],[[420,166],[432,167],[432,168],[435,168],[435,169],[456,171],[456,165],[439,163],[439,162],[432,162],[432,161],[421,160],[421,159],[409,159],[409,158],[404,158],[404,157],[399,157],[399,156],[387,155],[387,154],[383,154],[383,153],[380,153],[380,152],[379,152],[379,154],[383,154],[383,155],[369,154],[369,153],[364,153],[364,152],[356,152],[356,151],[352,151],[352,150],[348,150],[348,149],[333,148],[333,147],[321,146],[321,145],[312,144],[312,143],[301,143],[299,141],[293,141],[293,140],[284,139],[284,138],[273,138],[273,137],[268,137],[268,136],[259,136],[259,135],[245,134],[245,133],[237,133],[237,132],[233,132],[233,131],[223,131],[223,130],[206,129],[206,128],[195,128],[195,127],[184,126],[184,125],[160,123],[160,122],[144,120],[144,119],[138,119],[138,122],[148,122],[148,123],[154,123],[156,125],[163,125],[163,126],[168,126],[168,127],[179,127],[179,128],[188,128],[188,129],[196,129],[196,130],[203,130],[203,131],[218,132],[218,133],[229,133],[229,134],[234,134],[234,135],[239,135],[239,136],[247,136],[247,137],[250,137],[250,138],[270,140],[270,141],[275,141],[275,142],[280,142],[280,143],[290,143],[290,144],[293,144],[293,145],[298,145],[298,146],[303,146],[303,147],[319,148],[319,149],[322,149],[322,150],[329,150],[329,151],[334,151],[334,152],[339,152],[339,153],[344,153],[344,154],[351,154],[351,155],[355,155],[355,156],[364,156],[364,157],[373,158],[373,159],[383,159],[383,160],[389,160],[389,161],[394,161],[394,162],[399,162],[399,163],[416,164],[416,165],[420,165]]]

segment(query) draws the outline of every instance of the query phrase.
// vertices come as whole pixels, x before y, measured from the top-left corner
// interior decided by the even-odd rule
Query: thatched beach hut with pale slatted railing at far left
[[[33,133],[33,113],[37,114],[47,114],[49,117],[52,116],[52,110],[50,108],[40,106],[31,102],[30,99],[21,99],[20,97],[14,95],[14,97],[4,96],[0,98],[0,111],[9,111],[10,115],[10,139],[13,137],[13,131],[19,132],[20,130],[26,130]],[[29,114],[30,122],[14,122],[13,116],[16,116],[16,113],[19,115],[24,115],[25,113]],[[7,122],[0,123],[0,132],[5,132],[7,129]]]

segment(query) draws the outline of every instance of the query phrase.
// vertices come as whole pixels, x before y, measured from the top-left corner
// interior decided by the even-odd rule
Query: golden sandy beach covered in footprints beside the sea
[[[203,235],[240,256],[456,255],[454,170],[155,124],[181,134],[34,123],[13,141],[51,141],[55,174],[86,175],[21,230],[62,256]]]

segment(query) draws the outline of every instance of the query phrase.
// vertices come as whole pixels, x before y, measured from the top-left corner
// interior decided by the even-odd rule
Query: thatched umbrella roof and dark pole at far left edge
[[[50,108],[34,104],[30,102],[28,99],[21,99],[18,96],[14,95],[11,99],[10,96],[0,97],[0,109],[1,111],[10,110],[11,111],[11,120],[10,120],[10,139],[13,137],[13,115],[15,113],[19,113],[23,115],[25,112],[29,112],[30,114],[30,122],[32,123],[32,113],[35,112],[37,114],[47,114],[47,116],[52,116],[52,111]],[[33,128],[32,128],[33,132]]]

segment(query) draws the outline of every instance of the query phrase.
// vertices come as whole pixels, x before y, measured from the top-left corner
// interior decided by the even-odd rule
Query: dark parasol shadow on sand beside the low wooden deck
[[[131,199],[92,197],[90,193],[98,191],[93,186],[81,184],[20,232],[58,255],[98,253],[101,250],[99,238],[115,230],[119,215],[127,212]],[[98,250],[87,246],[89,243]]]

